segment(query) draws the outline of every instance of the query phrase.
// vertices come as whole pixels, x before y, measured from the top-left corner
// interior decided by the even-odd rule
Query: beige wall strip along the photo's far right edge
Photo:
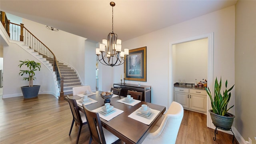
[[[236,4],[236,129],[256,144],[256,1]]]

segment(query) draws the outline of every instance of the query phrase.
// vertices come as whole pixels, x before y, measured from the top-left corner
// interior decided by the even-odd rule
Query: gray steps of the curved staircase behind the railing
[[[64,96],[72,95],[72,88],[76,86],[81,86],[81,82],[74,70],[72,70],[68,65],[58,62],[60,73],[64,77],[63,92]]]

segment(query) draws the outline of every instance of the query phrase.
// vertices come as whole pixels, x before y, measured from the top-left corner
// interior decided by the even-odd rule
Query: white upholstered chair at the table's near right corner
[[[182,105],[172,102],[166,114],[158,120],[142,144],[175,144],[183,113]]]

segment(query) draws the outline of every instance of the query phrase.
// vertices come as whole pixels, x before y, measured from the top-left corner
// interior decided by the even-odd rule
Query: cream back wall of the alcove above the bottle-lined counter
[[[207,80],[208,74],[208,39],[195,40],[173,45],[175,64],[173,65],[174,82],[193,83]]]

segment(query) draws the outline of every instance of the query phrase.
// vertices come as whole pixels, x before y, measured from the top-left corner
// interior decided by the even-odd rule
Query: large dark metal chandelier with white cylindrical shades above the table
[[[107,39],[102,40],[100,48],[96,48],[96,55],[100,63],[112,67],[124,64],[126,60],[125,56],[129,55],[128,48],[125,48],[124,52],[121,51],[122,41],[118,39],[117,34],[115,34],[113,30],[113,7],[115,5],[114,2],[110,2],[110,6],[112,6],[112,32],[108,34]]]

